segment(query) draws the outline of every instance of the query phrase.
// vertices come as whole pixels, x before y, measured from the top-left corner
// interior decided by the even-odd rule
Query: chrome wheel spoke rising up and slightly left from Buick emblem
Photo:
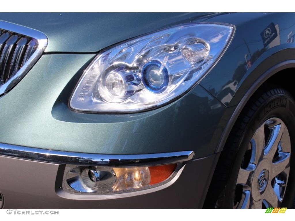
[[[251,148],[252,148],[252,155],[251,155],[251,159],[250,162],[257,165],[263,150],[264,150],[264,126],[260,126],[258,128],[258,130],[255,132],[252,140],[250,141],[251,144]]]

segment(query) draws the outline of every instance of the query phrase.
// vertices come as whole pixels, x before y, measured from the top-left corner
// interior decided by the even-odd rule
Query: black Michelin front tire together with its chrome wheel
[[[295,102],[263,86],[246,104],[221,153],[206,208],[290,207],[294,195]]]

